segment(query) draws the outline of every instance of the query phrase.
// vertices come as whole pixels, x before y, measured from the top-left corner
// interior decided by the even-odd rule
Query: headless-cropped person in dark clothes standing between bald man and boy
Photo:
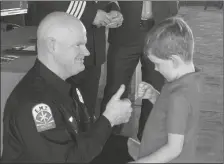
[[[154,24],[176,15],[178,11],[176,1],[118,1],[118,4],[124,21],[122,26],[109,31],[107,83],[101,113],[119,86],[130,84],[139,59],[142,64],[142,80],[152,84],[158,91],[161,90],[164,78],[154,70],[153,63],[144,59],[144,38]],[[122,96],[128,96],[127,89]],[[142,131],[152,106],[153,104],[148,100],[142,101],[139,140],[141,140]],[[116,128],[115,133],[120,133],[121,127]]]

